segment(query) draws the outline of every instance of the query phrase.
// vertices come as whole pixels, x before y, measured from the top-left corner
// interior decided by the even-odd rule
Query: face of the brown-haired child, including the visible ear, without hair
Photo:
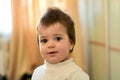
[[[56,64],[68,58],[73,44],[63,25],[55,23],[49,27],[42,26],[38,33],[41,56],[47,62]]]

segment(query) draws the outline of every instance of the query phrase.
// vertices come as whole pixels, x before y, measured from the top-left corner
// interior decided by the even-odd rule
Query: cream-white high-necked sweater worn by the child
[[[34,70],[31,80],[89,80],[89,76],[68,59],[58,64],[45,62]]]

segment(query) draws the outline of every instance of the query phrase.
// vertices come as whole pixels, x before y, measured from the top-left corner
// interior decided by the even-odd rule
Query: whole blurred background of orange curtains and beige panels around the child
[[[43,64],[36,23],[53,6],[74,20],[71,57],[90,80],[120,80],[120,0],[0,0],[0,80],[30,80]]]

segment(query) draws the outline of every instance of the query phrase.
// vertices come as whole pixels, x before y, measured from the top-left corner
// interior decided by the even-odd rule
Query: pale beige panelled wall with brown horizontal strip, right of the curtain
[[[88,40],[86,43],[89,49],[86,50],[90,58],[91,80],[120,80],[120,1],[79,1],[84,4],[82,8],[85,6],[86,15],[83,19],[86,19],[87,24]],[[81,7],[79,8],[82,9]],[[83,22],[83,19],[80,21]]]

